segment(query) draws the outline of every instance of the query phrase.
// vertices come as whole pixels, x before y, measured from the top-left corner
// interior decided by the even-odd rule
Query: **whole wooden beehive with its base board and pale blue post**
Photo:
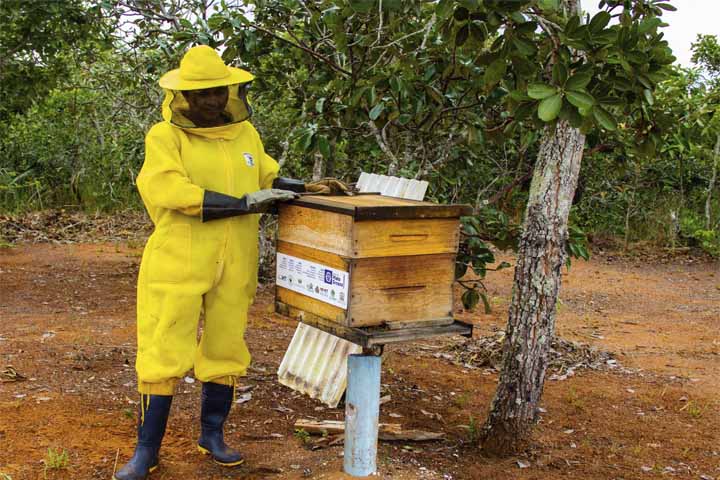
[[[411,186],[384,185],[386,194]],[[472,325],[452,312],[459,217],[469,213],[466,205],[378,194],[305,196],[280,206],[276,311],[363,348],[347,357],[350,475],[377,470],[383,346],[472,336]]]

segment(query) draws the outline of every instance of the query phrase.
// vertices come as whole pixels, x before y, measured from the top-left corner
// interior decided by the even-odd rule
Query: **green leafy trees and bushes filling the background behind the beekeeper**
[[[256,74],[253,121],[284,174],[421,178],[431,200],[472,204],[458,261],[480,282],[486,249],[516,244],[540,136],[558,120],[588,135],[577,229],[694,242],[682,222],[709,198],[700,227],[715,231],[720,210],[717,39],[696,42],[703,74],[668,78],[661,14],[674,7],[600,7],[581,18],[555,0],[2,2],[0,201],[139,206],[157,78],[204,43]],[[579,231],[570,257],[589,252]]]

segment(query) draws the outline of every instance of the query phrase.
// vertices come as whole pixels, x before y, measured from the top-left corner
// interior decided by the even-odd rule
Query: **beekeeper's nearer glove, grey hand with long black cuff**
[[[202,221],[209,222],[219,218],[236,217],[248,213],[265,213],[276,202],[294,200],[299,195],[289,190],[270,188],[248,193],[241,198],[224,193],[205,190],[203,197]]]

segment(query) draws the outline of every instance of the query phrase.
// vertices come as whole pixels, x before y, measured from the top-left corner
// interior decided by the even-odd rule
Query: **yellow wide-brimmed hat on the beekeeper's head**
[[[188,50],[180,61],[180,68],[167,72],[158,83],[168,90],[200,90],[248,83],[254,78],[246,70],[225,65],[215,50],[201,45]]]

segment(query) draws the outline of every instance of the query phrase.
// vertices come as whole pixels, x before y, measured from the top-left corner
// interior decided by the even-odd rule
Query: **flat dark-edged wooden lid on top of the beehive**
[[[440,205],[377,194],[305,195],[293,200],[290,204],[350,215],[355,220],[457,218],[472,214],[470,205]]]

